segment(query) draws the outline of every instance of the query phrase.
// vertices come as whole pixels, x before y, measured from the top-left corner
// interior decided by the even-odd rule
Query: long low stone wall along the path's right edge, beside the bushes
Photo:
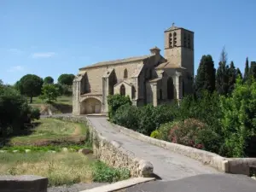
[[[256,167],[256,158],[224,158],[218,154],[213,154],[197,148],[191,148],[177,143],[169,143],[159,139],[145,136],[139,132],[132,131],[123,126],[114,125],[119,132],[141,140],[146,143],[151,143],[161,148],[166,148],[177,154],[183,154],[189,158],[199,160],[205,165],[212,166],[218,171],[234,174],[250,175],[250,169]]]

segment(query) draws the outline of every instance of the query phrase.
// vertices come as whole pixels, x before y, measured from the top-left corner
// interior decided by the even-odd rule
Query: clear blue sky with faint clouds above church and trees
[[[218,67],[225,46],[243,72],[247,56],[256,61],[255,9],[255,0],[1,0],[0,79],[56,80],[97,61],[148,55],[163,49],[172,22],[195,32],[195,71],[201,55]]]

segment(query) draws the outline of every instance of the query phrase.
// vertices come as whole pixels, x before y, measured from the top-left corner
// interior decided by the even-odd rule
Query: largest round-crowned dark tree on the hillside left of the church
[[[29,96],[31,103],[33,96],[39,96],[41,94],[43,84],[43,79],[34,74],[27,74],[17,82],[20,93],[22,95]]]

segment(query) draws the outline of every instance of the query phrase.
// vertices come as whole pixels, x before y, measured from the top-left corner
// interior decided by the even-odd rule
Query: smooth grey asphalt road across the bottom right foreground
[[[256,180],[243,175],[202,174],[175,181],[142,183],[122,192],[255,192]]]

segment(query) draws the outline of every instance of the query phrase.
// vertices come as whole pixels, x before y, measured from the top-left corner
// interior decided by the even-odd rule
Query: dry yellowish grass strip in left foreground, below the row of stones
[[[115,182],[130,177],[127,170],[114,169],[79,153],[0,154],[0,175],[39,175],[49,186],[73,183]]]

